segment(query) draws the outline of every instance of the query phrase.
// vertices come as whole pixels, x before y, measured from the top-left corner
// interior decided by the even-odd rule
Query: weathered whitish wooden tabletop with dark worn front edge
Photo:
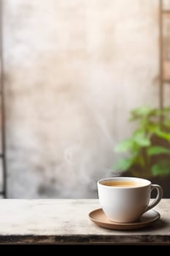
[[[98,200],[0,200],[0,244],[170,245],[170,199],[155,207],[161,219],[141,230],[107,230],[88,213]]]

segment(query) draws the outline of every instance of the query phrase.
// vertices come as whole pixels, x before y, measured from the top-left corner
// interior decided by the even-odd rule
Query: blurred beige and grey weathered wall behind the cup
[[[158,0],[5,0],[8,197],[96,197],[158,105]]]

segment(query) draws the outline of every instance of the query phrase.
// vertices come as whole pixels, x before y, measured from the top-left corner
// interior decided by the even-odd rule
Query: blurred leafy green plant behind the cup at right
[[[130,138],[115,147],[126,155],[114,170],[150,179],[170,176],[170,108],[142,106],[131,110],[129,121],[137,126]]]

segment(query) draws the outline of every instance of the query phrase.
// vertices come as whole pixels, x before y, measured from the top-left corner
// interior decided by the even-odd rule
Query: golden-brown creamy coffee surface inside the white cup
[[[142,182],[136,182],[136,181],[104,181],[102,182],[103,185],[109,186],[109,187],[141,187],[143,184]]]

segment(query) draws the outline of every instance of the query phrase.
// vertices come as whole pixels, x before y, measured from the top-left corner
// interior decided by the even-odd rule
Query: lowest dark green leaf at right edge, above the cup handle
[[[152,175],[166,175],[170,173],[170,160],[163,159],[160,162],[152,165]]]

